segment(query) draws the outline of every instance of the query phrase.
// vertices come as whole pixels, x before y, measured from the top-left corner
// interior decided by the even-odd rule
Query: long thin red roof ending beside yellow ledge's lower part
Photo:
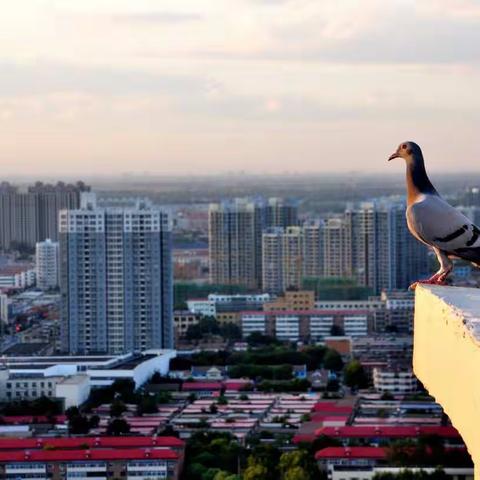
[[[315,431],[317,437],[326,435],[328,437],[352,438],[352,437],[389,437],[389,438],[405,438],[418,437],[420,435],[438,435],[446,438],[459,438],[460,434],[454,427],[403,427],[403,426],[379,426],[379,427],[322,427]]]

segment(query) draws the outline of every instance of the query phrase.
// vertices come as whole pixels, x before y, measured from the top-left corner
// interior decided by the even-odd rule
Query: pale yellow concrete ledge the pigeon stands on
[[[462,435],[480,480],[480,289],[417,287],[413,368]]]

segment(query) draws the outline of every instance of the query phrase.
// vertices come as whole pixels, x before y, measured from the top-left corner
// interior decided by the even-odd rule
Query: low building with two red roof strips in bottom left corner
[[[15,439],[0,445],[0,476],[177,480],[183,456],[184,442],[173,437]]]

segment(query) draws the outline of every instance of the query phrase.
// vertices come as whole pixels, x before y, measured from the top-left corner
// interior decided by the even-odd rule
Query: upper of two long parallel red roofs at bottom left
[[[0,438],[2,450],[43,449],[45,446],[68,449],[88,448],[182,448],[185,443],[177,437],[62,437],[62,438]]]

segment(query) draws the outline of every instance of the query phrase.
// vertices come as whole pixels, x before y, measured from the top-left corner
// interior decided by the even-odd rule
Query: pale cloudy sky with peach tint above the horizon
[[[480,1],[2,6],[3,176],[392,173],[405,140],[480,170]]]

